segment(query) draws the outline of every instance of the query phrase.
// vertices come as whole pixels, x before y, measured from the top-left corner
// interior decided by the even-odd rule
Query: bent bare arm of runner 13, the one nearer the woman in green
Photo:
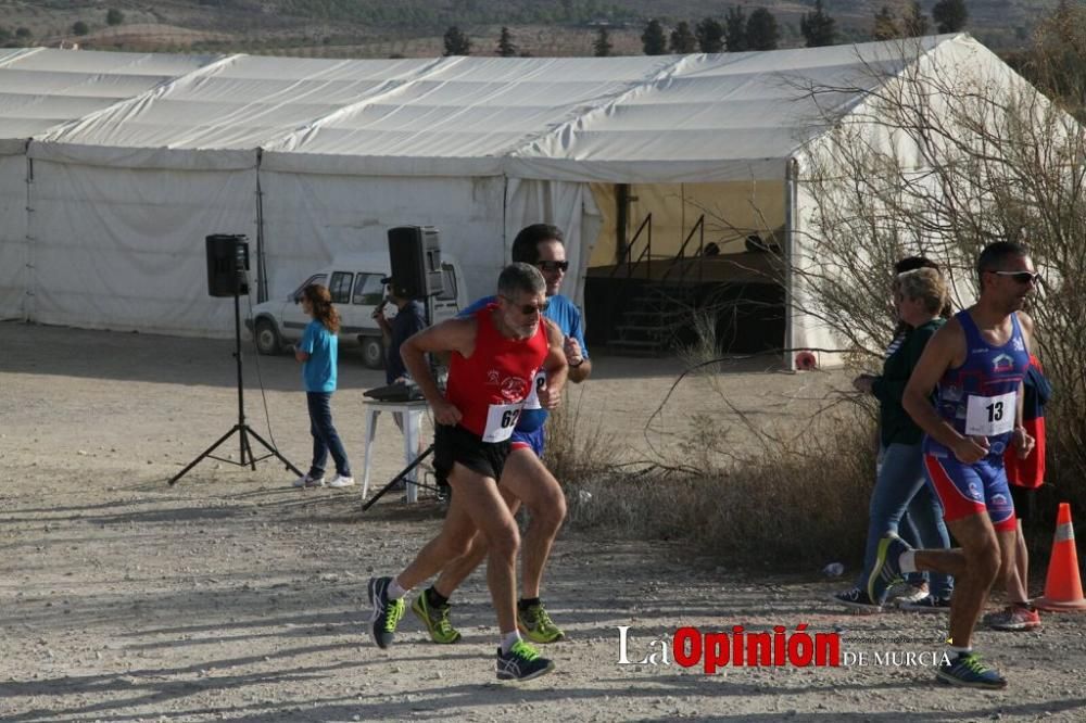
[[[943,420],[929,398],[946,370],[957,366],[964,345],[965,337],[957,321],[949,321],[935,332],[909,377],[901,406],[920,429],[954,452],[958,459],[971,465],[988,453],[987,440],[982,440],[982,445],[973,437],[959,434]]]

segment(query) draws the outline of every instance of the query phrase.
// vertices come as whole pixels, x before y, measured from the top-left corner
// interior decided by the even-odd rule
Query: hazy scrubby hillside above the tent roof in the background
[[[931,13],[936,0],[921,7]],[[517,52],[536,56],[591,55],[606,27],[611,54],[642,53],[648,18],[665,27],[703,17],[723,22],[733,3],[710,0],[137,0],[25,2],[0,0],[0,43],[79,43],[103,50],[249,52],[315,58],[435,56],[443,34],[458,26],[472,54],[494,54],[501,28]],[[781,26],[781,47],[799,47],[803,2],[749,2],[770,9]],[[997,50],[1030,37],[1033,24],[1056,0],[967,0],[965,29]],[[905,0],[825,0],[837,21],[838,42],[871,39],[874,13],[887,7],[900,16]],[[110,11],[114,11],[110,15]],[[112,24],[111,24],[112,22]],[[934,27],[934,24],[933,24]],[[933,30],[934,31],[934,30]]]

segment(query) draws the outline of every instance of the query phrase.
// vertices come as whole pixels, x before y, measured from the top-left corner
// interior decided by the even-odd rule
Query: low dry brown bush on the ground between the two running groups
[[[678,469],[566,478],[569,524],[685,542],[730,569],[809,572],[834,560],[858,563],[874,478],[873,429],[869,416],[857,415],[844,434],[768,442],[745,455],[731,451],[725,461],[709,459],[719,443],[707,432],[692,441],[702,458],[687,457]],[[691,461],[700,470],[692,471]]]

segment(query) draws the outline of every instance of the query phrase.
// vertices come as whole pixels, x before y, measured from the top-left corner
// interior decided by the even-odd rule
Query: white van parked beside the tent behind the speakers
[[[384,366],[384,344],[381,329],[374,320],[374,309],[384,297],[381,279],[389,276],[388,254],[356,253],[337,256],[319,271],[302,281],[286,299],[266,301],[253,307],[253,318],[245,320],[245,327],[256,340],[261,354],[277,354],[286,345],[301,340],[302,331],[312,320],[299,303],[302,290],[311,283],[328,287],[332,303],[340,313],[340,339],[355,341],[362,345],[362,362],[370,369]],[[467,306],[467,289],[456,259],[441,255],[441,270],[444,289],[433,300],[433,318],[437,324],[456,316]],[[395,306],[386,306],[386,314],[395,316]]]

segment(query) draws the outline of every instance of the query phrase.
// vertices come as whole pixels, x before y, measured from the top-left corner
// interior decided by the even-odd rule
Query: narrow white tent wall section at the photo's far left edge
[[[0,319],[26,319],[26,157],[0,155]]]

